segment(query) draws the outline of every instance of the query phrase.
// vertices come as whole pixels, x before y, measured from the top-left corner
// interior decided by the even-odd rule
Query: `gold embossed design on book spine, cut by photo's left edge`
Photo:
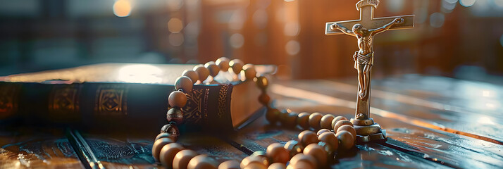
[[[18,93],[20,86],[15,84],[0,85],[0,118],[11,117],[18,111]]]

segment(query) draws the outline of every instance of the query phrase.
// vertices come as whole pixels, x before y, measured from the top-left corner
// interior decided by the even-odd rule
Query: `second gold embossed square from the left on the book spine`
[[[79,85],[55,85],[49,95],[49,118],[77,120],[79,118]]]

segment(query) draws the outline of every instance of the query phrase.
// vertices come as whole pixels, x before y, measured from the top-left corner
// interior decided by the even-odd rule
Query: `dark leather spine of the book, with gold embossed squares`
[[[182,130],[232,130],[232,87],[195,85],[182,108]],[[159,132],[168,123],[168,96],[174,90],[164,84],[0,82],[0,120],[82,130]]]

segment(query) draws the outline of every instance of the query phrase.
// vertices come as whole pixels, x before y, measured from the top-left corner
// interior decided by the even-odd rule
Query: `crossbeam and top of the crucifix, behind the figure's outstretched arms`
[[[331,30],[330,25],[337,23],[344,27],[347,27],[351,30],[354,24],[359,23],[363,27],[368,30],[375,29],[378,27],[382,27],[387,23],[391,23],[395,18],[403,18],[404,23],[392,25],[390,30],[400,30],[400,29],[408,29],[414,27],[414,15],[401,15],[401,16],[392,16],[385,18],[374,18],[374,8],[377,8],[379,4],[378,0],[371,0],[374,4],[368,4],[366,1],[359,1],[356,4],[356,9],[360,11],[360,19],[359,20],[344,20],[337,22],[330,22],[325,24],[325,35],[340,35],[342,32],[340,30]]]

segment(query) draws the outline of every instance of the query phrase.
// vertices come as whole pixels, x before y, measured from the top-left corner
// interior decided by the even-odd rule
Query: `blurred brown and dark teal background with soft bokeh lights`
[[[325,23],[357,0],[0,0],[0,75],[93,63],[278,65],[282,78],[354,77],[356,39]],[[418,73],[502,82],[503,0],[381,0],[375,18],[416,15],[377,35],[374,77]]]

